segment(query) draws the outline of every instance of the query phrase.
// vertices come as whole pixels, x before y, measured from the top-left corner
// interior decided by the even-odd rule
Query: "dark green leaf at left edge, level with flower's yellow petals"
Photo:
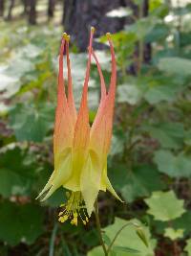
[[[1,151],[0,194],[3,197],[29,195],[37,168],[33,161],[32,154],[13,145]]]

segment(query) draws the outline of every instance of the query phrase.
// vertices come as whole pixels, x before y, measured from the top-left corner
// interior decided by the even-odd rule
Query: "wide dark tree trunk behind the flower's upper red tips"
[[[127,5],[130,5],[130,0],[64,0],[64,29],[77,43],[77,47],[84,51],[91,26],[96,27],[96,36],[115,33],[123,28],[125,18],[111,18],[105,14]]]

